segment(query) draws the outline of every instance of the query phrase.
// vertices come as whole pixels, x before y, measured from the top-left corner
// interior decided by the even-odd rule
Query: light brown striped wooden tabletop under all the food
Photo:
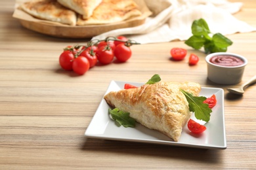
[[[25,29],[12,18],[13,7],[14,0],[0,3],[0,169],[256,168],[255,86],[241,97],[228,94],[229,86],[207,80],[205,54],[180,41],[132,46],[127,63],[94,67],[77,76],[60,69],[58,56],[65,46],[87,40],[58,39]],[[235,16],[256,27],[256,3],[244,1]],[[228,52],[249,60],[242,84],[256,73],[256,33],[227,37],[234,42]],[[175,46],[198,54],[198,65],[169,60]],[[226,150],[84,136],[111,80],[142,82],[156,73],[163,80],[223,88]]]

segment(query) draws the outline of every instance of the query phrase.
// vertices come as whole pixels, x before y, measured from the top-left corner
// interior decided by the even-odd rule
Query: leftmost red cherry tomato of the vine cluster
[[[60,66],[64,70],[72,70],[72,64],[74,61],[74,53],[70,50],[64,50],[58,59]]]

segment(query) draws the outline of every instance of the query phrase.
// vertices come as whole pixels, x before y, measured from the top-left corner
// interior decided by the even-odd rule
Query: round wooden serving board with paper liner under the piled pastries
[[[17,18],[22,26],[38,33],[51,35],[53,37],[84,39],[91,38],[114,29],[135,27],[143,24],[146,18],[150,16],[152,12],[150,12],[148,7],[146,7],[146,4],[143,0],[135,0],[135,2],[137,3],[140,11],[142,12],[142,16],[113,24],[70,26],[56,22],[40,20],[38,18],[30,16],[30,14],[27,14],[26,12],[18,8],[21,3],[24,3],[24,0],[16,0],[15,10],[12,16],[14,18]]]

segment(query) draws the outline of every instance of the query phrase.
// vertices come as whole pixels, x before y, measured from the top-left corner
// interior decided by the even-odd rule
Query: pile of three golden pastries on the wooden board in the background
[[[35,18],[68,25],[110,24],[142,14],[133,0],[32,0],[20,8]]]

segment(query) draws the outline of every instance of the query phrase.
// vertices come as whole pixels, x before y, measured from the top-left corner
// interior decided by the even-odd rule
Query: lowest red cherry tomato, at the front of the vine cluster
[[[87,58],[84,56],[79,56],[74,59],[72,68],[75,73],[78,75],[83,75],[85,72],[87,72],[90,68],[90,63]]]

